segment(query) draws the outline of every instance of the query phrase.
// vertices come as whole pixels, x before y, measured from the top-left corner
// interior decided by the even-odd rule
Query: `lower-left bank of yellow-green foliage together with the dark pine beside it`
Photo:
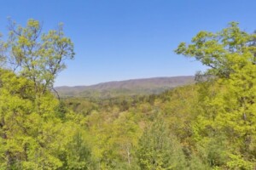
[[[72,112],[59,115],[63,105],[53,94],[36,98],[33,82],[10,71],[0,70],[0,82],[1,169],[92,166],[90,147],[80,136],[84,129],[75,125],[73,119],[67,120]]]

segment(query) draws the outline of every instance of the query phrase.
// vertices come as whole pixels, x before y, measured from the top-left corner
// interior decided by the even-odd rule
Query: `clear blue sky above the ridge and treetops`
[[[9,16],[22,25],[44,21],[44,30],[63,22],[76,56],[55,86],[194,75],[205,68],[176,55],[178,43],[230,21],[252,32],[255,7],[254,0],[3,0],[0,32]]]

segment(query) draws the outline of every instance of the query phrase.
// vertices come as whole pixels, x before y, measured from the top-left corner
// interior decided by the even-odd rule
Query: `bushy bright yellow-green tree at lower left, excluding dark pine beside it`
[[[60,167],[57,153],[67,134],[55,116],[58,100],[50,93],[34,99],[33,82],[9,71],[0,70],[0,82],[0,167]]]

